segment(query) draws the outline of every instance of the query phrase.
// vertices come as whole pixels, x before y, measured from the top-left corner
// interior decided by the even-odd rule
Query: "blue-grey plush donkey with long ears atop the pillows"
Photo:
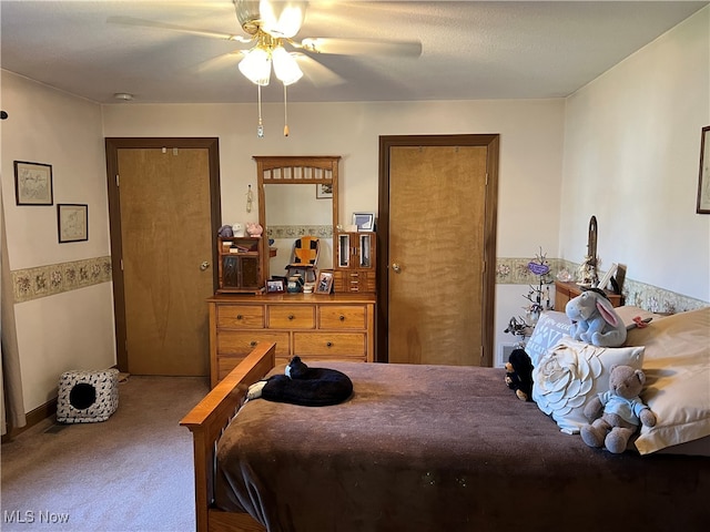
[[[590,288],[567,301],[565,314],[571,320],[575,340],[599,347],[619,347],[626,341],[626,325],[604,290]]]

